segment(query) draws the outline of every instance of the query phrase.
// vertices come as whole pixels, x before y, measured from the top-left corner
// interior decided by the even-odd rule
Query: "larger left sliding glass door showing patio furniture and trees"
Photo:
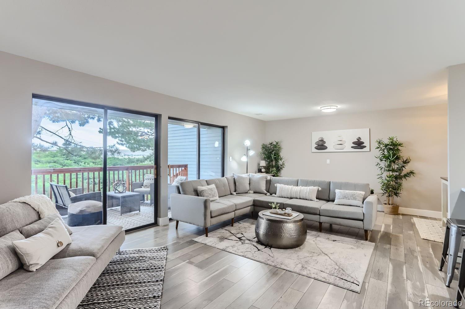
[[[157,116],[33,96],[33,194],[70,226],[156,223]]]

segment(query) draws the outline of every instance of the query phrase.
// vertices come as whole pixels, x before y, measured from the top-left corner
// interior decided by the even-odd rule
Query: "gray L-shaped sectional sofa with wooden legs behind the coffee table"
[[[197,187],[215,184],[219,200],[210,201],[209,198],[199,197]],[[299,198],[275,197],[275,184],[287,184],[293,186],[318,186],[321,190],[317,193],[316,201]],[[335,190],[363,191],[363,207],[334,204]],[[277,202],[280,208],[291,207],[304,215],[305,220],[319,222],[319,230],[323,223],[337,224],[347,227],[365,230],[365,240],[368,232],[373,229],[378,210],[378,197],[370,195],[370,185],[352,182],[327,181],[304,178],[272,177],[266,181],[266,191],[270,195],[259,193],[241,193],[232,195],[235,190],[233,176],[189,180],[179,184],[180,193],[171,194],[171,215],[176,220],[176,228],[179,221],[198,225],[205,228],[208,236],[208,227],[234,217],[270,209],[270,203]]]

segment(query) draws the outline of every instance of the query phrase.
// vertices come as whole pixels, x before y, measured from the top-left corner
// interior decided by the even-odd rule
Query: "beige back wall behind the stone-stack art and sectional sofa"
[[[370,152],[312,153],[312,131],[362,128],[370,128]],[[446,104],[266,122],[266,140],[282,141],[282,176],[369,183],[375,192],[375,141],[388,136],[405,144],[404,155],[412,158],[410,166],[417,171],[416,178],[405,181],[400,206],[440,211],[439,177],[447,175]]]

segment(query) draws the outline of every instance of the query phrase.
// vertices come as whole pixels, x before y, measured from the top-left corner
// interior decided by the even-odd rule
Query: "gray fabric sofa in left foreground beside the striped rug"
[[[29,204],[1,204],[0,243],[8,241],[8,235],[17,237],[19,229],[38,220],[39,213]],[[119,225],[76,226],[70,229],[73,231],[70,235],[72,243],[38,270],[29,272],[20,267],[0,279],[0,309],[71,309],[79,305],[119,250],[125,232]],[[0,269],[7,269],[6,263],[9,262],[11,260],[8,259],[0,261]]]

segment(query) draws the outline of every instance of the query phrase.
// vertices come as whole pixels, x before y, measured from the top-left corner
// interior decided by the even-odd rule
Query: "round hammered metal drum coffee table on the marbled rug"
[[[260,211],[255,224],[255,237],[259,243],[277,249],[297,248],[305,243],[307,227],[301,213],[292,211],[299,215],[286,219],[264,215],[268,211]]]

